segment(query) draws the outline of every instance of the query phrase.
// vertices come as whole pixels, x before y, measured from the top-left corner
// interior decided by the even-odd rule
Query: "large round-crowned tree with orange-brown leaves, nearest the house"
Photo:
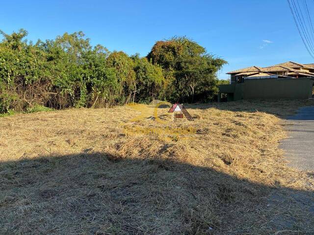
[[[147,58],[164,69],[165,98],[171,101],[208,101],[217,93],[216,72],[227,63],[185,37],[158,41]],[[201,98],[202,97],[202,98]]]

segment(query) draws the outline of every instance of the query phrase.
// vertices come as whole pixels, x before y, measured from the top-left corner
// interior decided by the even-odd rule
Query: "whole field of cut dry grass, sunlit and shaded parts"
[[[314,174],[280,117],[314,101],[70,109],[0,118],[0,234],[314,234]]]

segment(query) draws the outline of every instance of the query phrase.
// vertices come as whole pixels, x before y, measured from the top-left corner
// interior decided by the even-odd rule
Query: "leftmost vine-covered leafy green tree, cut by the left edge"
[[[11,35],[1,32],[0,43],[0,112],[24,110],[41,100],[45,91],[40,84],[49,80],[45,52],[27,44],[27,32],[20,29]]]

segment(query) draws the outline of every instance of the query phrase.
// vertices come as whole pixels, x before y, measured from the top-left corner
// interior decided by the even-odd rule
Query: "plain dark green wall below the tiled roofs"
[[[219,93],[226,93],[228,101],[257,98],[308,99],[312,97],[313,83],[314,79],[311,78],[246,79],[244,83],[220,85]]]

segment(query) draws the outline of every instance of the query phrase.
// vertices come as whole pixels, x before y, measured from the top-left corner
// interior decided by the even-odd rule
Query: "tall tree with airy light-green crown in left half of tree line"
[[[47,53],[52,87],[57,93],[52,102],[58,108],[87,106],[83,65],[85,55],[91,50],[90,40],[82,32],[64,33],[37,45]]]

